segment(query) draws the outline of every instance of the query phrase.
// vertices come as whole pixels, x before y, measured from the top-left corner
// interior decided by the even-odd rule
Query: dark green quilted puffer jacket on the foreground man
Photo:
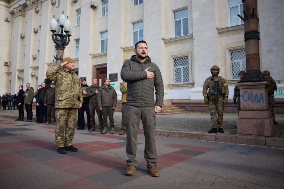
[[[148,71],[155,74],[153,79],[147,78],[147,73],[144,71],[146,68],[149,68]],[[164,84],[162,74],[158,66],[151,62],[149,56],[144,62],[140,62],[136,55],[131,56],[130,60],[124,62],[120,76],[122,80],[127,81],[127,105],[138,107],[163,106]]]

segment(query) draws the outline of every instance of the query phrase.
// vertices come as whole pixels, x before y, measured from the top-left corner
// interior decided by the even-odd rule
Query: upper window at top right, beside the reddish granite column
[[[231,26],[244,24],[244,21],[237,15],[240,14],[244,17],[244,7],[241,0],[229,0],[229,15]]]

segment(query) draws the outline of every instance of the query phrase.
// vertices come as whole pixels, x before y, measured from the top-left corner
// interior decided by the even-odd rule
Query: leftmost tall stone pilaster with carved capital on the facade
[[[24,8],[19,5],[17,8],[14,8],[14,31],[13,31],[13,40],[12,40],[12,61],[11,61],[11,92],[17,92],[19,85],[21,85],[21,79],[17,77],[19,72],[17,70],[23,69],[24,65],[24,38],[21,38],[21,34],[24,32],[24,22],[25,22],[25,12]],[[24,77],[24,76],[22,76]],[[25,85],[25,83],[24,83]]]

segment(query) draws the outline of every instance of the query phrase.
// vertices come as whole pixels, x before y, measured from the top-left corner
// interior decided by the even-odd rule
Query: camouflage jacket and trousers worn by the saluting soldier
[[[60,64],[49,68],[46,77],[53,80],[56,85],[54,104],[56,145],[58,148],[70,146],[74,138],[79,104],[83,102],[79,77],[74,70],[66,71]]]

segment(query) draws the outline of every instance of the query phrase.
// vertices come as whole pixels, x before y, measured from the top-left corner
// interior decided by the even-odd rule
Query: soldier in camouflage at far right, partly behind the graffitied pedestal
[[[268,81],[270,87],[267,89],[268,92],[268,106],[271,118],[274,120],[274,124],[278,124],[275,121],[274,107],[275,107],[275,99],[274,99],[274,91],[277,90],[277,85],[275,80],[270,76],[270,72],[265,70],[263,71],[263,75],[265,79]]]

